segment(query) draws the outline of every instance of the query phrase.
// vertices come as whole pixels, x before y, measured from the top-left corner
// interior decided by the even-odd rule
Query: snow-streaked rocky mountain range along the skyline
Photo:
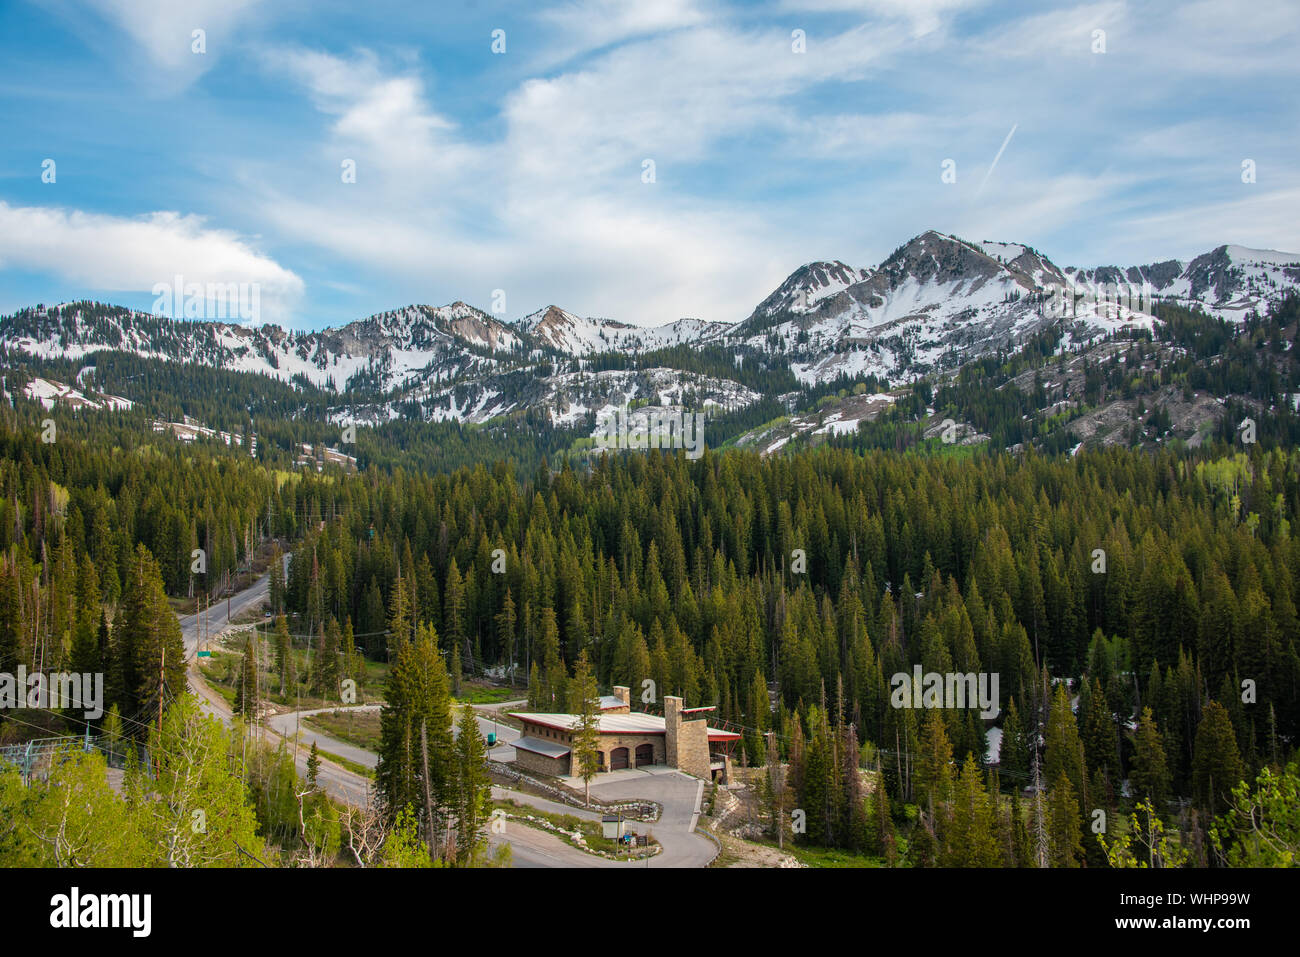
[[[1070,296],[1063,317],[1050,308],[1054,290],[1112,283],[1147,283],[1156,302],[1240,321],[1300,289],[1300,255],[1219,246],[1186,263],[1062,269],[1023,243],[928,230],[878,267],[807,263],[734,324],[682,319],[644,328],[558,306],[507,324],[454,302],[300,333],[81,302],[0,319],[0,347],[70,360],[117,350],[308,382],[337,394],[337,417],[354,421],[484,421],[545,410],[551,421],[576,423],[611,402],[658,402],[668,393],[727,408],[760,398],[789,407],[789,372],[809,387],[841,376],[898,384],[1015,350],[1048,328],[1060,326],[1062,348],[1126,326],[1150,328],[1145,302]],[[697,355],[684,356],[682,346]],[[779,369],[780,389],[771,385],[776,380],[760,386],[762,395],[754,389],[740,369],[749,372],[755,360]],[[634,387],[607,374],[615,369],[634,372]],[[677,387],[670,389],[673,378]]]

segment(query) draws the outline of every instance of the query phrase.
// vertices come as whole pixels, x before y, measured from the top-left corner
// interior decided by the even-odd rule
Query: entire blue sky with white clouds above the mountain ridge
[[[1294,0],[8,0],[0,312],[179,274],[303,329],[495,290],[655,325],[926,229],[1300,251],[1296,49]]]

